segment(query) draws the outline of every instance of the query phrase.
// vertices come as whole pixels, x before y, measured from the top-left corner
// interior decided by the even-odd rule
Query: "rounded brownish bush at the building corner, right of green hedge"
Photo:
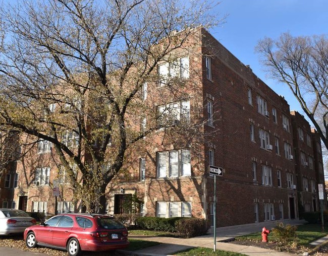
[[[183,237],[194,237],[207,233],[206,221],[197,218],[183,218],[176,221],[176,230]]]

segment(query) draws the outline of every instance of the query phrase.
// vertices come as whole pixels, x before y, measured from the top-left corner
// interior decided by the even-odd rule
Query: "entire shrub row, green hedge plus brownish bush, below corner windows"
[[[204,235],[207,232],[206,221],[197,218],[138,217],[136,226],[141,229],[177,232],[183,237]]]

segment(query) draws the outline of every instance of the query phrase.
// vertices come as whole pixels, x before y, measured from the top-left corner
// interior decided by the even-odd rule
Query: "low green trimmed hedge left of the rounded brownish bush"
[[[182,217],[174,218],[158,218],[158,217],[138,217],[136,226],[142,229],[150,229],[157,231],[176,232],[176,221]]]

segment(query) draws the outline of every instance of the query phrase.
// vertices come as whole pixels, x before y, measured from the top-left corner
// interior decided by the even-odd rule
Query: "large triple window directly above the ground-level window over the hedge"
[[[190,176],[190,150],[173,150],[157,153],[157,177]]]

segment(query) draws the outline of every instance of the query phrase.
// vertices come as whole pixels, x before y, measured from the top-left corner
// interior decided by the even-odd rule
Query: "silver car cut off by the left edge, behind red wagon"
[[[23,234],[25,228],[35,224],[36,220],[26,212],[0,208],[0,235]]]

